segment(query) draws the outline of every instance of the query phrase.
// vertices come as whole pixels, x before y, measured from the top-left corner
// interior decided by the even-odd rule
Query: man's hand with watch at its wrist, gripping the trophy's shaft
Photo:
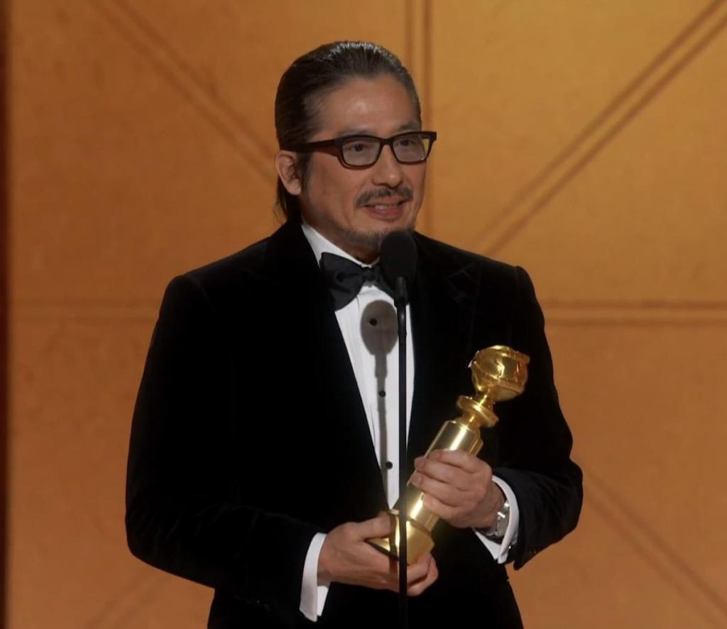
[[[424,505],[432,513],[460,529],[493,524],[505,497],[486,462],[461,450],[434,450],[414,466],[411,484],[425,493]]]

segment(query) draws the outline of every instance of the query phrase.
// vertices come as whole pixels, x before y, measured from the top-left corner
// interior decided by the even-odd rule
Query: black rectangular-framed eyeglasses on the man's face
[[[383,138],[375,135],[345,135],[334,140],[320,140],[286,148],[286,151],[309,153],[324,151],[338,157],[348,168],[365,168],[376,164],[385,145],[391,147],[400,164],[427,161],[437,134],[434,131],[407,131]]]

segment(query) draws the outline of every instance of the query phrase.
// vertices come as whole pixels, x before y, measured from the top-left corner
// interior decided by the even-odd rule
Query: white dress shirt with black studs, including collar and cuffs
[[[359,260],[336,247],[315,229],[302,224],[318,264],[321,254],[332,253],[362,265]],[[369,266],[369,265],[362,265]],[[374,442],[379,469],[386,488],[389,507],[398,500],[398,334],[394,300],[375,284],[366,282],[361,292],[340,310],[336,318],[348,350],[348,356],[356,375],[358,391],[369,420],[371,439]],[[414,393],[414,343],[411,338],[411,316],[406,306],[406,432],[409,434],[411,398]],[[442,417],[442,422],[447,418]],[[516,541],[518,531],[518,502],[510,486],[502,479],[494,482],[510,502],[510,522],[502,542],[488,540],[475,531],[491,555],[500,564],[507,560],[507,553]],[[300,611],[308,620],[315,622],[323,613],[329,583],[318,581],[318,555],[326,535],[313,537],[305,556],[300,594]]]

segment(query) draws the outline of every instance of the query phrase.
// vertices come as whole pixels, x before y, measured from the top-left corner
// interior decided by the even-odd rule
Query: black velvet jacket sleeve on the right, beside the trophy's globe
[[[529,378],[499,423],[501,456],[494,475],[518,500],[518,542],[510,551],[517,569],[574,529],[583,487],[582,472],[570,457],[573,440],[558,404],[543,314],[526,271],[518,267],[515,274],[513,348],[530,356]]]

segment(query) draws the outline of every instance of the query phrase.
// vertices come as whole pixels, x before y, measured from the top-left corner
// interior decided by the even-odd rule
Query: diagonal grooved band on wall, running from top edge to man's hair
[[[244,118],[193,71],[181,55],[145,20],[121,0],[92,2],[105,20],[152,68],[220,134],[257,172],[265,183],[274,183],[270,162],[275,150],[252,132]],[[264,160],[261,160],[264,156]]]

